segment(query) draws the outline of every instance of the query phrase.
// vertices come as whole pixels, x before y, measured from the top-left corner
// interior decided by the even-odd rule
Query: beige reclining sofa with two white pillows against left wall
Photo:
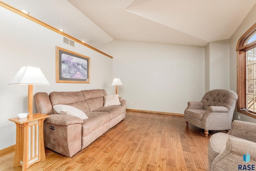
[[[126,114],[126,100],[120,105],[104,107],[107,93],[104,89],[69,92],[38,92],[34,95],[36,111],[50,115],[44,121],[44,145],[58,153],[72,157],[111,127],[122,121]],[[59,114],[54,105],[79,109],[88,117]],[[76,114],[76,113],[75,113]]]

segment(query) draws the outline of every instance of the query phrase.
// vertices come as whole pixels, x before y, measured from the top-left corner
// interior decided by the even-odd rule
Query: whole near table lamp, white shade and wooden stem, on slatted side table
[[[33,117],[33,85],[50,85],[39,67],[22,66],[8,85],[28,85],[28,114]]]

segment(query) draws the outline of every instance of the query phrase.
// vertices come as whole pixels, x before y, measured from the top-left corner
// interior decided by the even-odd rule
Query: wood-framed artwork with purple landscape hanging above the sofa
[[[56,46],[56,83],[90,83],[90,58]]]

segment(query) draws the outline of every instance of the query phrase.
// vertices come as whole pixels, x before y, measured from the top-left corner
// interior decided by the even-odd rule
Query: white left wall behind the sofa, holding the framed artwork
[[[63,44],[63,36],[18,14],[0,7],[0,149],[15,144],[16,125],[8,121],[18,113],[27,112],[28,87],[7,85],[18,70],[25,65],[38,66],[50,86],[34,86],[38,91],[80,91],[106,89],[114,93],[112,59],[76,43],[76,48]],[[56,46],[91,58],[90,84],[64,84],[55,80]],[[35,112],[35,110],[34,110]]]

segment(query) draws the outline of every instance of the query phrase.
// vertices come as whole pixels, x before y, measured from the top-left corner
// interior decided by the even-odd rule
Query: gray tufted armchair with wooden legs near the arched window
[[[189,101],[184,111],[188,123],[204,129],[208,137],[209,130],[229,130],[238,95],[229,89],[208,91],[201,101]]]

